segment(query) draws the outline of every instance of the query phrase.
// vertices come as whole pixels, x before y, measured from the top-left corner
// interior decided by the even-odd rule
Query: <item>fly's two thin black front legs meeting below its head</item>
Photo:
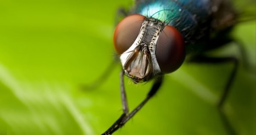
[[[122,107],[123,114],[117,119],[117,121],[102,135],[111,135],[117,129],[122,127],[130,118],[132,118],[146,103],[147,101],[157,93],[157,90],[162,84],[163,76],[159,76],[154,80],[154,84],[151,87],[151,90],[148,92],[146,98],[131,112],[128,113],[128,105],[126,100],[125,88],[123,84],[123,71],[121,72],[121,98],[122,98]]]

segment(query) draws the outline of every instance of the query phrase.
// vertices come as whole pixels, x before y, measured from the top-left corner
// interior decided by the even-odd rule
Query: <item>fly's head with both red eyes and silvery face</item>
[[[185,57],[183,38],[175,28],[139,14],[116,26],[114,47],[126,75],[136,83],[175,71]]]

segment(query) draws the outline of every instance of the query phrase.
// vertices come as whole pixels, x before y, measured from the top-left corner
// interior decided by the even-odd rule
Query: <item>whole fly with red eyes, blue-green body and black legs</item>
[[[209,57],[204,55],[204,51],[232,41],[220,38],[226,36],[237,22],[237,13],[230,5],[229,0],[136,0],[113,35],[114,48],[122,64],[123,114],[102,135],[111,135],[133,117],[157,93],[164,74],[180,68],[186,56],[191,62],[234,64],[218,102],[221,112],[238,60],[235,57]],[[146,98],[130,113],[123,76],[128,76],[135,83],[154,80]],[[223,117],[223,121],[227,130],[235,134],[227,119]]]

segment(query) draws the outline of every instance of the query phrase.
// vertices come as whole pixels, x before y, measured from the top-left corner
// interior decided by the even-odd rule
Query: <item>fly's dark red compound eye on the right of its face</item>
[[[185,45],[180,32],[167,25],[156,45],[156,58],[162,73],[177,70],[185,59]]]

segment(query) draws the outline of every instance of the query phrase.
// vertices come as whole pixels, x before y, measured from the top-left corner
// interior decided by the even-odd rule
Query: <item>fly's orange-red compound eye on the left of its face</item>
[[[140,14],[133,14],[118,23],[113,36],[114,48],[117,54],[122,54],[131,47],[140,33],[144,19],[145,17]]]

